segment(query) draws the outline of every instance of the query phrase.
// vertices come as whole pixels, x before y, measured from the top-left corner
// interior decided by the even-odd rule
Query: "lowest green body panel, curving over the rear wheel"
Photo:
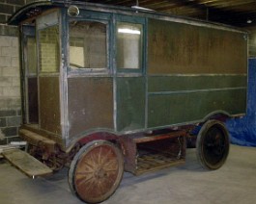
[[[216,111],[242,114],[246,109],[245,98],[246,89],[150,94],[148,127],[202,120]]]

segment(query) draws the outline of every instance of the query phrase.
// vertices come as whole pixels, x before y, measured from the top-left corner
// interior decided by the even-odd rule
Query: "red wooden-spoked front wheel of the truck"
[[[69,171],[71,190],[83,201],[99,203],[118,188],[124,172],[121,151],[106,140],[92,141],[74,156]]]

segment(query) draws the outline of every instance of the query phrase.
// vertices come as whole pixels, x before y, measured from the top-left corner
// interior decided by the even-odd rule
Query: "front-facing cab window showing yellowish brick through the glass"
[[[39,31],[40,67],[44,73],[59,72],[59,26],[46,27]]]

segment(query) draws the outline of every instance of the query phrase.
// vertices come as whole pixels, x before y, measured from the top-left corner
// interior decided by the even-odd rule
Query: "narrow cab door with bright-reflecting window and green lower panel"
[[[117,16],[115,22],[116,127],[145,128],[145,19]]]

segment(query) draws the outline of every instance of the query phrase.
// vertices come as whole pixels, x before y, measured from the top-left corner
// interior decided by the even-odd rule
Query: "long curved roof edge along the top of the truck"
[[[212,21],[206,21],[202,19],[196,19],[186,16],[179,16],[179,15],[173,15],[169,13],[156,13],[154,11],[145,11],[145,10],[138,10],[138,9],[132,9],[128,7],[122,7],[122,6],[111,6],[111,5],[103,5],[103,4],[95,4],[95,3],[88,3],[84,0],[35,0],[33,3],[29,3],[19,9],[16,13],[14,13],[8,20],[8,24],[10,25],[18,25],[18,23],[26,18],[29,17],[29,13],[36,13],[37,10],[42,12],[43,10],[47,8],[53,8],[53,7],[69,7],[71,5],[76,5],[77,7],[81,9],[90,9],[93,11],[98,12],[108,12],[108,13],[140,13],[147,15],[148,17],[153,18],[159,18],[159,19],[165,19],[170,20],[178,23],[185,23],[185,24],[192,24],[196,26],[203,26],[203,27],[212,27],[215,29],[220,30],[229,30],[233,32],[239,32],[239,33],[248,33],[246,30],[238,27],[234,27],[231,25],[225,25],[217,22]],[[36,11],[36,12],[35,12]],[[39,14],[40,14],[39,12]]]

